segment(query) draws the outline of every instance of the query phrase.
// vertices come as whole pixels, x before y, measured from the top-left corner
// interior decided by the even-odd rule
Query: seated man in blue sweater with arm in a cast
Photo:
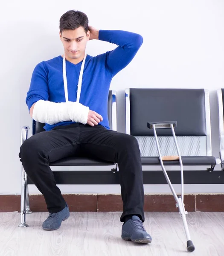
[[[69,208],[56,186],[49,163],[84,154],[118,163],[123,213],[122,239],[150,243],[143,227],[144,191],[140,149],[128,134],[109,129],[107,104],[111,79],[134,58],[143,38],[125,31],[97,30],[87,16],[70,10],[61,16],[64,55],[39,63],[26,97],[29,113],[45,123],[45,132],[20,148],[25,172],[44,195],[49,216],[44,230],[56,230],[69,217]],[[117,44],[112,51],[86,55],[87,41]]]

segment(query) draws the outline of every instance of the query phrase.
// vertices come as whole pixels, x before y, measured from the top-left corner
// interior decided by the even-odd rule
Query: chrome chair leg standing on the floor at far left
[[[20,214],[21,214],[21,223],[18,227],[29,227],[26,224],[26,199],[27,199],[27,181],[26,181],[26,172],[22,166],[22,188],[21,188],[21,204],[20,204]]]

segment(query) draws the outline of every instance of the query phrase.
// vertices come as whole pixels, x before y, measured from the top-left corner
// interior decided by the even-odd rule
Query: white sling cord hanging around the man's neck
[[[82,83],[82,76],[83,76],[83,71],[84,71],[84,65],[85,65],[85,60],[86,60],[86,54],[84,56],[84,59],[81,64],[81,70],[79,73],[79,83],[78,83],[78,90],[77,90],[77,98],[76,102],[79,103],[80,99],[80,94],[81,94],[81,83]],[[67,76],[66,76],[66,61],[65,57],[63,57],[63,81],[64,81],[64,96],[65,96],[65,102],[68,102],[68,85],[67,85]]]

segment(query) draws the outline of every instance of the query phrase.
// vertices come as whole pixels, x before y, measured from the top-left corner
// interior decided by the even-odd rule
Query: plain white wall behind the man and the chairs
[[[211,96],[212,147],[218,157],[217,88],[224,86],[224,2],[221,0],[1,1],[0,194],[20,194],[20,128],[30,125],[25,97],[36,64],[63,54],[59,18],[83,11],[90,25],[141,34],[144,43],[111,83],[118,91],[118,130],[124,131],[126,87],[207,88]],[[115,46],[88,42],[97,55]],[[219,169],[219,166],[216,167]],[[62,192],[120,192],[119,186],[60,186]],[[175,186],[180,191],[180,186]],[[224,185],[186,185],[186,192],[224,192]],[[30,192],[38,192],[30,186]],[[145,192],[169,192],[166,185]]]

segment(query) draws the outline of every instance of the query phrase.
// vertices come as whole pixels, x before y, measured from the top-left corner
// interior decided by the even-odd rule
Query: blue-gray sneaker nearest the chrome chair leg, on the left
[[[69,215],[69,208],[66,204],[66,207],[64,207],[60,212],[53,212],[49,214],[46,221],[43,222],[43,230],[57,230],[61,227],[61,222],[67,220]]]

